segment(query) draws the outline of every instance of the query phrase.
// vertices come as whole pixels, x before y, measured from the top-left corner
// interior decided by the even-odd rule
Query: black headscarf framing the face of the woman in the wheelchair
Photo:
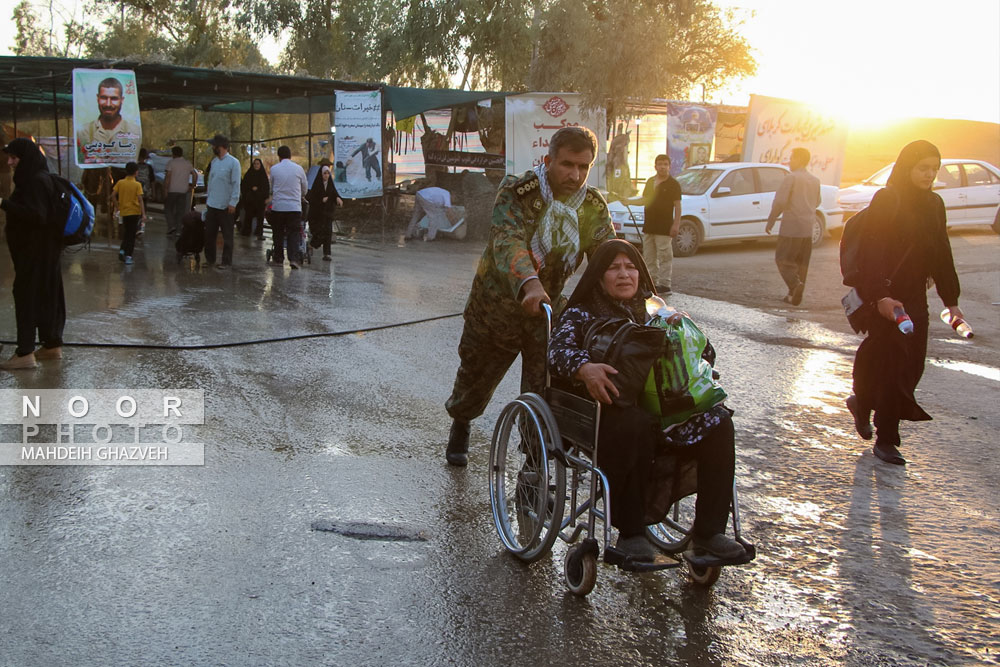
[[[639,269],[639,289],[627,301],[612,299],[601,285],[604,272],[620,254],[625,254]],[[628,241],[610,239],[599,245],[587,261],[587,270],[570,295],[567,307],[585,308],[599,317],[622,317],[624,310],[633,320],[641,323],[646,321],[646,297],[655,292],[649,269],[636,247]]]

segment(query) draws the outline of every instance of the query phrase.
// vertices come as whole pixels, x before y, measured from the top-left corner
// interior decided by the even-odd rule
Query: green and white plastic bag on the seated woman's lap
[[[666,332],[664,353],[653,362],[639,406],[667,428],[706,412],[726,400],[726,392],[712,379],[712,366],[701,358],[708,337],[688,317],[677,323],[655,316],[648,326]]]

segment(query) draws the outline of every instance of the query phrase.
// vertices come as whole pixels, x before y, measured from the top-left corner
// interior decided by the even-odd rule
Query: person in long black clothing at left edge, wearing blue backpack
[[[35,368],[36,360],[62,358],[66,324],[63,296],[62,227],[55,220],[55,187],[45,156],[30,139],[18,138],[3,149],[14,172],[14,192],[0,199],[7,214],[7,247],[14,263],[14,314],[17,350],[0,368]],[[42,348],[35,351],[35,332]]]

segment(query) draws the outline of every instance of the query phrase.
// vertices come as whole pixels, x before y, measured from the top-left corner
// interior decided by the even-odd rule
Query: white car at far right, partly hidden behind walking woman
[[[840,191],[845,220],[868,206],[875,193],[885,187],[892,166],[883,167],[863,183]],[[944,200],[949,227],[993,225],[993,231],[1000,234],[1000,169],[981,160],[941,160],[934,191]]]

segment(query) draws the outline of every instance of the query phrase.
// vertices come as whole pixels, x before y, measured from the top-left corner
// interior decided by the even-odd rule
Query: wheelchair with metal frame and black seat
[[[552,310],[548,304],[543,307],[551,334]],[[653,562],[636,560],[612,546],[608,480],[595,465],[600,419],[599,402],[551,386],[547,371],[543,395],[524,393],[504,407],[490,446],[489,495],[493,521],[507,551],[533,563],[549,553],[556,539],[563,540],[570,545],[563,563],[565,583],[578,596],[593,590],[602,552],[606,563],[631,572],[686,565],[694,583],[704,587],[718,580],[723,567],[756,558],[754,545],[741,535],[735,482],[730,507],[733,538],[746,555],[724,560],[694,552],[694,462],[675,471],[683,479],[675,479],[674,502],[663,522],[647,528],[662,557]]]

